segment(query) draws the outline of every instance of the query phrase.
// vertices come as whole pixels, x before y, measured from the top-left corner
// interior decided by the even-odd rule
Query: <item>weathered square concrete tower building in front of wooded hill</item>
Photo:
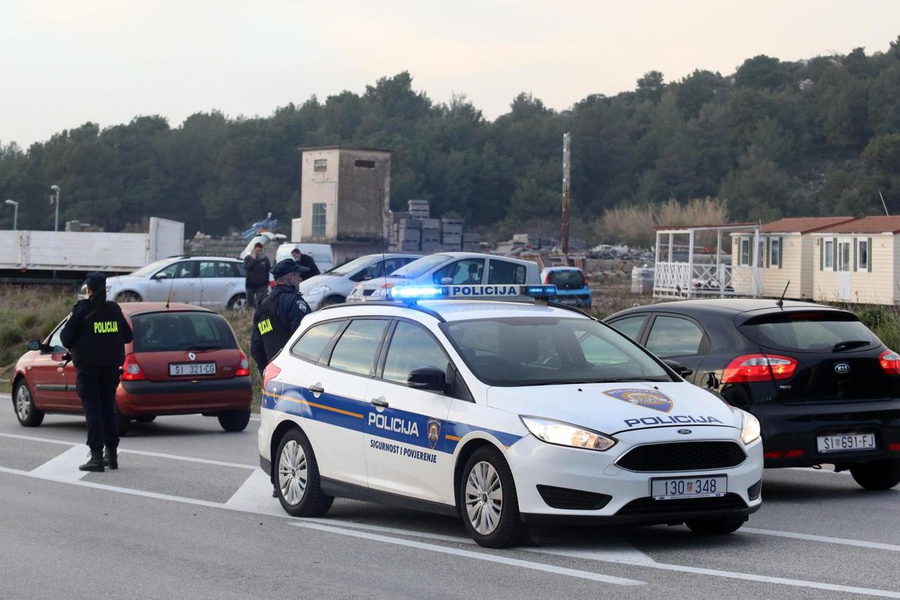
[[[380,251],[388,238],[391,151],[302,149],[301,239],[332,244],[335,264]]]

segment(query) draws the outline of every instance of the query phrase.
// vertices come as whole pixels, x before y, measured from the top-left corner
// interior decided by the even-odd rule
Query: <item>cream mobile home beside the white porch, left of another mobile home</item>
[[[755,280],[760,295],[810,300],[813,298],[813,274],[818,264],[813,232],[849,223],[853,217],[797,217],[779,219],[760,228],[756,257],[752,256],[752,235],[732,234],[734,287],[752,295]],[[757,267],[753,267],[753,259]],[[785,289],[787,288],[787,292]]]

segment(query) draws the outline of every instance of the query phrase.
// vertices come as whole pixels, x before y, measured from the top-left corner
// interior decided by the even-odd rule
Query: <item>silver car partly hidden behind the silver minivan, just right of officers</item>
[[[319,310],[322,306],[337,305],[347,300],[347,295],[357,283],[390,275],[420,258],[416,254],[366,254],[310,277],[300,284],[300,291],[312,310]]]

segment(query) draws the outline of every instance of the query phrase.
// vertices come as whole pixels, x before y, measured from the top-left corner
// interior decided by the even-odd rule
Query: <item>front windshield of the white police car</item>
[[[510,317],[441,327],[489,386],[672,381],[644,350],[588,319]]]

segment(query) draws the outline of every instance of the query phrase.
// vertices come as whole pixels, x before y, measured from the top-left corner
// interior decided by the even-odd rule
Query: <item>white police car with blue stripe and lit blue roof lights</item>
[[[396,287],[308,315],[263,384],[260,461],[284,510],[458,514],[490,547],[538,522],[738,529],[761,505],[752,414],[577,309],[455,299],[552,288]]]

